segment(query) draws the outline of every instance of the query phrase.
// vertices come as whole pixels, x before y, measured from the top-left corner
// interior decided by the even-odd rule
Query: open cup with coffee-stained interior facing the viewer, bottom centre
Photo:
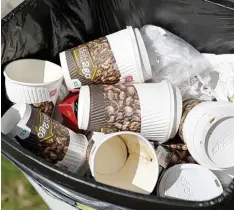
[[[97,182],[142,194],[150,194],[158,179],[154,148],[140,134],[119,132],[93,136],[88,156]]]

